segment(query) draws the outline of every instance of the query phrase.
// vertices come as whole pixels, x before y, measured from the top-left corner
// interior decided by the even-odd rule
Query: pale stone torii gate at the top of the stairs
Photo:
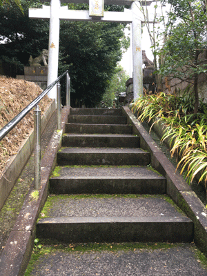
[[[134,99],[143,95],[142,52],[141,52],[141,21],[142,14],[139,10],[139,1],[133,0],[105,0],[105,4],[127,5],[130,10],[124,12],[104,12],[104,0],[41,0],[50,2],[50,6],[41,9],[30,8],[31,19],[50,19],[49,57],[48,57],[48,86],[58,77],[59,60],[59,22],[60,20],[72,21],[103,21],[132,23],[132,60]],[[61,7],[62,3],[88,3],[89,10],[68,10],[68,6]],[[142,1],[150,5],[152,1]],[[48,93],[50,98],[57,97],[56,89]]]

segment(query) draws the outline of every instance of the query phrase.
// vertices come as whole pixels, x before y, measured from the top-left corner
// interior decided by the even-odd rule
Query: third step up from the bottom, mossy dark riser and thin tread
[[[138,165],[150,164],[150,153],[139,148],[61,148],[57,165]]]

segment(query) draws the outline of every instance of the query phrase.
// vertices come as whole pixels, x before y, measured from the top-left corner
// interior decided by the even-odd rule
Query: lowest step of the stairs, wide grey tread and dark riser
[[[51,197],[50,197],[51,198]],[[159,197],[53,196],[37,238],[59,242],[192,242],[193,222]]]

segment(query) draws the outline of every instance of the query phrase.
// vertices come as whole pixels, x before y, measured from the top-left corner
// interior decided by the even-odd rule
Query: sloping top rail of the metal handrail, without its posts
[[[19,121],[21,121],[23,119],[23,117],[25,117],[28,114],[28,112],[30,112],[30,110],[32,110],[32,108],[34,108],[34,106],[37,106],[37,104],[39,103],[39,101],[41,101],[41,99],[45,95],[47,95],[48,92],[67,73],[68,73],[68,70],[66,70],[66,72],[63,73],[63,75],[59,76],[55,81],[53,81],[50,84],[50,86],[48,86],[45,90],[43,90],[43,92],[41,92],[41,94],[36,99],[34,99],[34,101],[32,101],[30,104],[28,104],[28,106],[26,106],[26,108],[24,108],[16,117],[14,117],[11,121],[9,121],[8,124],[6,124],[6,126],[4,126],[3,128],[1,128],[1,130],[0,130],[0,141],[1,141],[1,139],[3,139],[3,137],[5,137],[8,134],[8,132],[10,132],[15,126],[17,126],[17,124],[19,123]]]

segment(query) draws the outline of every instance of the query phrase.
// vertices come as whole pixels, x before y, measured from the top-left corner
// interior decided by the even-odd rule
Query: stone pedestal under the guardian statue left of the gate
[[[29,67],[25,66],[24,75],[17,75],[17,79],[25,79],[37,83],[43,90],[47,88],[48,67]]]

